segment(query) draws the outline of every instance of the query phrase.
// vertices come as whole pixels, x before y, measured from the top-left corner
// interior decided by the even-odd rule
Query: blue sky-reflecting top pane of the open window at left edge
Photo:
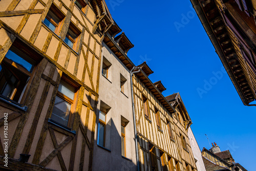
[[[14,48],[12,48],[14,49]],[[16,49],[16,48],[15,48]],[[17,49],[16,49],[17,50]],[[17,55],[16,53],[19,53],[20,55]],[[13,52],[11,50],[9,50],[7,52],[7,54],[5,55],[5,57],[7,57],[8,59],[14,61],[15,63],[17,63],[18,65],[22,66],[23,68],[25,68],[26,70],[28,70],[29,72],[32,72],[32,67],[33,65],[28,62],[27,60],[25,60],[24,58],[20,57],[21,55],[25,55],[24,53],[20,52],[19,50],[17,50],[17,52]],[[27,56],[27,55],[26,55]]]

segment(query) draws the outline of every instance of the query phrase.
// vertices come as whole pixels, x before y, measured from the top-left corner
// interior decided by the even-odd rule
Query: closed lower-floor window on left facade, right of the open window
[[[71,122],[73,118],[71,117],[73,117],[72,112],[75,109],[75,95],[75,88],[62,79],[59,83],[57,96],[55,98],[51,121],[64,127],[72,127]]]

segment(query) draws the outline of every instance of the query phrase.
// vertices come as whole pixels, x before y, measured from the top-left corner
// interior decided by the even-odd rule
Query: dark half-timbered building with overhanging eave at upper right
[[[190,1],[243,104],[255,106],[256,2]]]

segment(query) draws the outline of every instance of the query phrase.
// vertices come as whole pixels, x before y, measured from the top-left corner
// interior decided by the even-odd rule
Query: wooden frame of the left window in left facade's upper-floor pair
[[[52,16],[49,16],[49,11],[51,11],[58,19],[59,19],[59,23],[57,24],[52,18]],[[48,13],[47,13],[47,15],[46,15],[46,19],[48,19],[49,20],[49,22],[51,22],[56,28],[55,28],[55,30],[53,31],[52,29],[50,29],[48,26],[48,28],[52,31],[52,32],[54,32],[55,34],[59,34],[59,31],[61,30],[61,28],[62,28],[62,23],[63,23],[63,20],[64,20],[64,18],[66,17],[65,16],[65,14],[63,14],[59,9],[58,9],[58,7],[54,4],[54,3],[52,3],[52,5],[51,5],[51,7],[50,7],[50,9],[49,9],[49,11],[48,11]],[[45,24],[45,20],[44,20],[44,22],[43,22],[44,24]],[[46,25],[46,24],[45,24]]]

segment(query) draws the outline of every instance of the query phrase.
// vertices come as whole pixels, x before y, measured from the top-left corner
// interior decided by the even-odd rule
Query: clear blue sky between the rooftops
[[[189,0],[106,0],[112,17],[135,45],[128,56],[146,61],[164,96],[180,92],[200,149],[216,142],[255,170],[255,106],[244,106]],[[186,18],[184,17],[186,16]],[[217,74],[217,76],[216,76]],[[207,83],[208,82],[208,83]],[[198,93],[200,92],[200,93]]]

